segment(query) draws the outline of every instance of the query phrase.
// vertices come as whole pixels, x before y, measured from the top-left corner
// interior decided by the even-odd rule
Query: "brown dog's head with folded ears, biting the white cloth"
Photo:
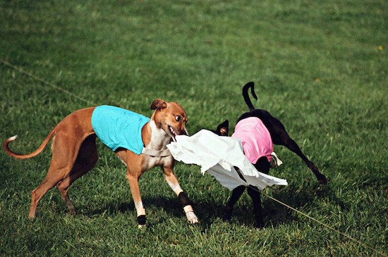
[[[187,114],[178,103],[167,103],[162,99],[154,99],[151,109],[155,110],[152,116],[157,127],[164,130],[172,138],[178,134],[188,134],[186,130]]]

